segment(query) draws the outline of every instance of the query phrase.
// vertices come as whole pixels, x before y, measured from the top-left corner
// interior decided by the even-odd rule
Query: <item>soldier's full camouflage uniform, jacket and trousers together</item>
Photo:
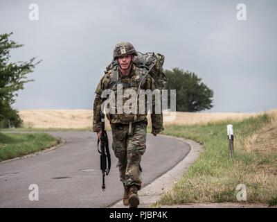
[[[105,75],[102,76],[98,86],[96,87],[96,98],[93,103],[93,132],[98,132],[100,128],[100,110],[102,98],[101,94],[105,89],[112,89],[116,94],[117,85],[113,85],[114,73],[118,74],[119,84],[123,84],[123,93],[127,89],[138,90],[138,85],[141,82],[141,73],[143,70],[132,64],[129,76],[120,74],[118,68],[107,69]],[[150,75],[145,76],[140,89],[155,89],[154,80]],[[163,117],[162,114],[154,114],[155,100],[152,96],[152,133],[160,133],[163,130]],[[123,104],[127,99],[123,98]],[[146,107],[145,99],[145,107]],[[117,103],[115,103],[117,105]],[[117,108],[116,108],[117,110]],[[145,112],[146,112],[145,108]],[[138,186],[141,189],[141,156],[145,153],[146,149],[146,126],[148,120],[146,114],[106,114],[107,119],[111,124],[111,133],[113,137],[112,149],[118,158],[117,167],[119,169],[120,181],[123,185],[129,187],[132,185]],[[130,122],[132,124],[130,124]],[[130,133],[130,127],[132,133]]]

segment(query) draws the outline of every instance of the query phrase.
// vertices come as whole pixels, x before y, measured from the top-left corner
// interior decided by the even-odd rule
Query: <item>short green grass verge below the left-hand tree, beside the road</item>
[[[41,151],[58,143],[45,133],[0,133],[0,162]]]

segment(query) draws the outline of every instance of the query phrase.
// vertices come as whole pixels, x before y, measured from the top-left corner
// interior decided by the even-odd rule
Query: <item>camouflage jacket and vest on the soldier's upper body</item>
[[[110,92],[114,92],[114,97],[116,99],[121,98],[123,103],[123,108],[125,108],[126,101],[128,102],[129,97],[125,98],[125,92],[127,90],[133,89],[133,92],[138,92],[138,89],[150,89],[148,91],[153,92],[155,88],[154,85],[154,79],[150,75],[144,76],[146,70],[141,69],[139,67],[136,67],[134,64],[132,65],[131,73],[129,76],[123,76],[120,74],[120,71],[118,71],[117,67],[107,69],[105,71],[104,76],[100,79],[100,82],[98,83],[96,87],[96,98],[94,99],[93,103],[93,127],[92,130],[93,132],[97,132],[98,130],[101,129],[100,127],[100,111],[101,111],[101,104],[102,104],[102,98],[101,94],[105,89],[111,90]],[[116,78],[115,78],[116,76]],[[121,86],[121,89],[123,90],[123,96],[118,97],[120,93],[118,93],[118,85]],[[141,90],[140,90],[141,91]],[[140,95],[140,94],[139,94]],[[143,121],[146,119],[147,115],[147,105],[150,106],[152,105],[152,112],[151,112],[151,121],[152,121],[152,132],[155,130],[157,133],[160,133],[163,130],[163,115],[162,113],[155,113],[155,108],[156,108],[156,99],[154,94],[152,96],[152,104],[148,104],[149,100],[146,99],[146,96],[138,96],[138,100],[136,100],[137,106],[136,108],[139,108],[139,101],[144,97],[144,107],[145,107],[145,112],[137,112],[134,114],[133,112],[122,112],[123,109],[121,108],[121,112],[118,112],[120,108],[118,108],[118,103],[115,102],[113,106],[115,106],[115,112],[106,112],[107,119],[109,119],[110,123],[122,123],[122,124],[128,124],[130,121],[132,123],[134,122],[139,122]],[[160,95],[159,95],[160,96]],[[151,102],[151,101],[150,101]],[[109,104],[110,105],[110,104]],[[107,107],[111,107],[107,105]],[[134,105],[132,103],[132,105]],[[159,104],[160,105],[160,104]],[[128,105],[127,105],[128,107]],[[140,107],[141,108],[141,107]]]

